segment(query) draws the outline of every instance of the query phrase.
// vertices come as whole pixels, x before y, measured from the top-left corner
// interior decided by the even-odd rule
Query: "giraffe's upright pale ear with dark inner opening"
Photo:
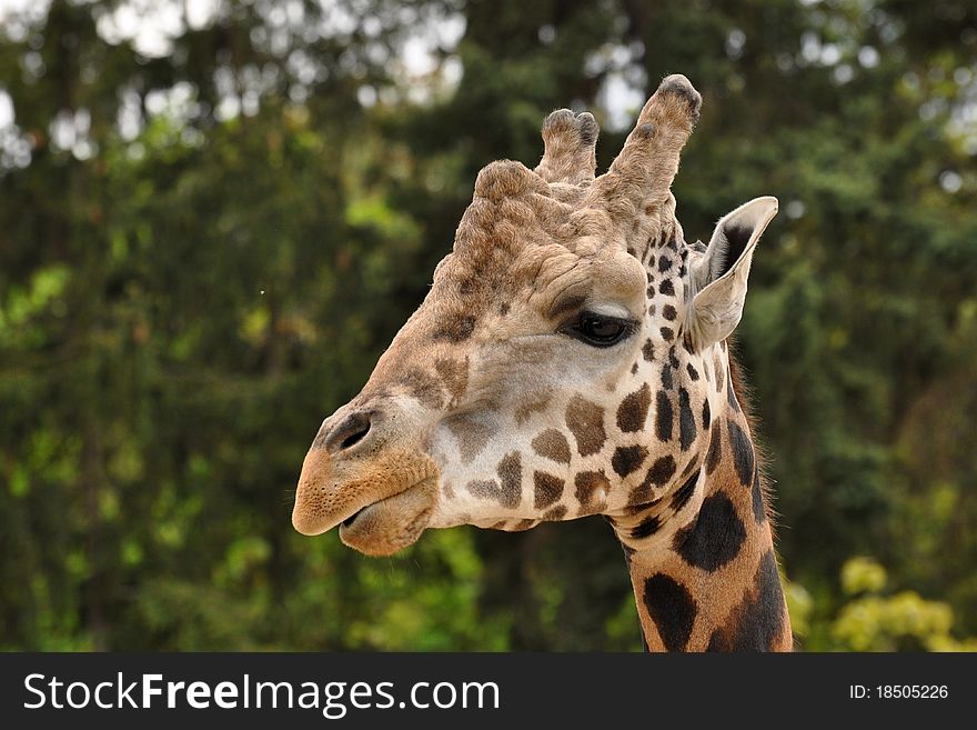
[[[697,350],[726,339],[739,323],[753,250],[776,214],[777,199],[767,196],[751,200],[716,223],[706,252],[692,267],[697,293],[692,301],[689,332]]]

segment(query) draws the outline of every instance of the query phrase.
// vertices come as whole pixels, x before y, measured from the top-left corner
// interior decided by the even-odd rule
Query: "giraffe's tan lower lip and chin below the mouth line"
[[[437,477],[374,502],[340,526],[340,540],[367,556],[390,556],[413,544],[437,504]]]

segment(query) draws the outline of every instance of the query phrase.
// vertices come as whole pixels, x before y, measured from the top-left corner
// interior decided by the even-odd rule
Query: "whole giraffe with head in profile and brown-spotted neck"
[[[777,212],[686,243],[672,181],[702,97],[648,99],[595,178],[597,123],[562,109],[535,170],[485,167],[433,284],[326,418],[292,523],[366,554],[426,528],[603,514],[653,651],[790,650],[762,470],[727,338]]]

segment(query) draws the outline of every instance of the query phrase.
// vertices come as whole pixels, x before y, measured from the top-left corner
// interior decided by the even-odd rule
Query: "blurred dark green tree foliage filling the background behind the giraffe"
[[[480,167],[564,106],[606,166],[607,89],[674,71],[687,238],[780,199],[737,349],[802,647],[975,649],[973,3],[259,0],[151,47],[42,4],[0,19],[0,649],[639,648],[602,520],[370,560],[289,513]]]

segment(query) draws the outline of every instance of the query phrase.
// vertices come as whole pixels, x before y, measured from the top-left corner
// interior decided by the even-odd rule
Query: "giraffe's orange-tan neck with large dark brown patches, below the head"
[[[723,401],[708,451],[671,507],[659,499],[611,520],[651,651],[793,647],[748,419],[735,397]]]

